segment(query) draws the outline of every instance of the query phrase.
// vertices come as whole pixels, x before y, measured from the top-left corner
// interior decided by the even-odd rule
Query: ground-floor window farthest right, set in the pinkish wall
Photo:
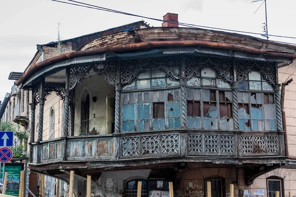
[[[275,197],[275,192],[280,192],[280,197],[284,197],[284,181],[281,177],[270,176],[267,181],[267,197]]]

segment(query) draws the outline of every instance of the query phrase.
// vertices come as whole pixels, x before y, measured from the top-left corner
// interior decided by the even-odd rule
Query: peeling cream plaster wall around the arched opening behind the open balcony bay
[[[114,87],[105,82],[102,77],[95,74],[83,79],[81,83],[77,84],[75,87],[74,135],[78,135],[80,130],[81,97],[84,90],[87,90],[90,98],[89,130],[95,128],[97,134],[106,134],[106,97],[110,95],[114,98],[115,90]],[[96,102],[93,102],[93,97],[97,97]]]

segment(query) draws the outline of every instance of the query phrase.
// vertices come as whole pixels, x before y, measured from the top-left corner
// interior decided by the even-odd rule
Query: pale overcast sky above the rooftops
[[[67,0],[64,0],[67,1]],[[77,0],[97,6],[162,19],[167,12],[178,13],[179,22],[261,33],[265,22],[264,4],[252,0]],[[69,2],[69,1],[68,1]],[[296,37],[296,0],[266,0],[268,33]],[[0,1],[0,100],[11,91],[11,71],[23,72],[34,57],[36,44],[57,40],[60,22],[62,39],[103,31],[140,21],[119,15],[51,0]],[[145,20],[145,19],[144,19]],[[150,26],[161,22],[145,20]],[[271,37],[293,42],[296,39]]]

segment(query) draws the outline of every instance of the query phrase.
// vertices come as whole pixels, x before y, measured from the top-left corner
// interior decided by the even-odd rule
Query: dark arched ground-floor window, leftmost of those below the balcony
[[[126,183],[125,187],[125,197],[137,197],[138,182],[142,182],[142,192],[141,197],[148,197],[147,193],[147,181],[141,179],[131,180]]]

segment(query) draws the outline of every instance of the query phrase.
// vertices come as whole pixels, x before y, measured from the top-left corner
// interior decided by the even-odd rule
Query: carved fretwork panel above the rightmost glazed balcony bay
[[[263,79],[270,84],[276,84],[276,71],[275,64],[273,62],[258,62],[258,61],[245,61],[236,60],[236,79],[237,82],[248,79],[248,74],[252,70],[257,69],[262,75]]]

